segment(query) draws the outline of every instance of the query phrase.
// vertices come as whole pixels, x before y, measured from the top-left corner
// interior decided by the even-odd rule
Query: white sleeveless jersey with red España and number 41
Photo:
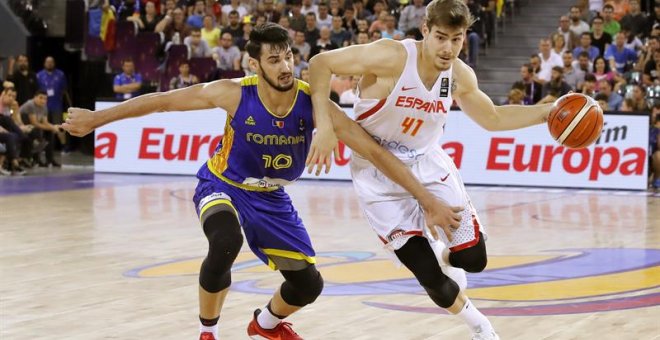
[[[451,68],[428,90],[417,73],[417,47],[401,42],[408,52],[399,81],[387,98],[358,99],[355,120],[380,145],[406,164],[413,164],[437,148],[452,104]],[[356,157],[362,163],[361,157]],[[364,164],[364,163],[363,163]],[[365,164],[366,165],[366,164]]]

